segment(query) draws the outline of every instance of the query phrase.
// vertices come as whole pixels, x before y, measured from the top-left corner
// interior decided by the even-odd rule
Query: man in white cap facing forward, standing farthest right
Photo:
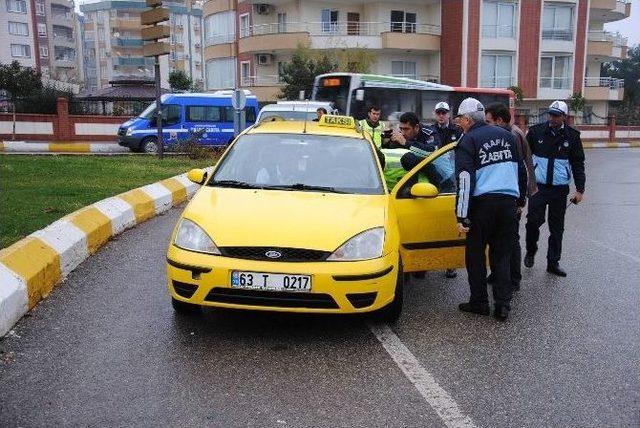
[[[527,252],[524,265],[532,267],[538,251],[540,226],[544,224],[549,207],[549,246],[547,249],[547,272],[565,277],[560,267],[564,215],[567,210],[569,184],[573,176],[576,192],[571,197],[574,204],[580,203],[584,194],[586,176],[584,172],[584,150],[580,131],[565,124],[568,108],[564,101],[556,100],[547,110],[549,120],[529,128],[527,143],[531,148],[538,193],[529,198],[527,212]]]

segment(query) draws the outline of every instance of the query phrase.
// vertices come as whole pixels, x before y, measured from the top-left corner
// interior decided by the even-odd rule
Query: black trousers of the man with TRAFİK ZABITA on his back
[[[516,198],[506,195],[484,195],[471,200],[465,260],[474,306],[489,304],[487,294],[486,250],[493,275],[493,300],[496,306],[511,309],[513,287],[509,257],[514,241]]]

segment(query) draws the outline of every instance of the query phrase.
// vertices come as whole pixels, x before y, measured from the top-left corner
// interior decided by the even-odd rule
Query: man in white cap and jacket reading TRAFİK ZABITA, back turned
[[[458,107],[464,131],[455,151],[456,217],[458,231],[466,233],[465,262],[471,297],[458,308],[489,315],[486,251],[492,272],[494,317],[506,321],[511,310],[509,259],[513,245],[516,209],[525,204],[527,172],[506,129],[485,123],[484,106],[466,98]]]

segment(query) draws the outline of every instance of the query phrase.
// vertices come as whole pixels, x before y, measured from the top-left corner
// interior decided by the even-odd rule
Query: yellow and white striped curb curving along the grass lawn
[[[81,208],[0,250],[0,337],[109,239],[181,204],[198,187],[186,174],[139,187]]]

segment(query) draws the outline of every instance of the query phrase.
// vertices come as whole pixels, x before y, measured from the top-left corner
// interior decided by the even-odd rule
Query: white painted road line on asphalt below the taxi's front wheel
[[[446,426],[450,428],[475,427],[471,418],[462,413],[453,398],[438,384],[431,373],[420,365],[418,359],[388,325],[369,324],[369,328]]]

